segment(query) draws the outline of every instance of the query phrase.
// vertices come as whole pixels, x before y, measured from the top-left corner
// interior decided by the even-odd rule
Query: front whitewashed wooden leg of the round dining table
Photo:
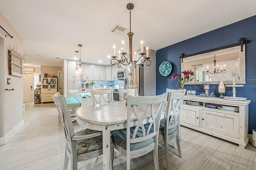
[[[110,130],[108,126],[102,127],[102,145],[103,145],[103,169],[112,170],[111,165],[111,144],[110,144]]]

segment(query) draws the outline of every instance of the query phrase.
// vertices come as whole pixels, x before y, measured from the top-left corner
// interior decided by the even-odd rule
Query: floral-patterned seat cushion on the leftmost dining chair
[[[82,131],[78,131],[75,133],[75,136],[80,135],[90,135],[92,133],[98,133],[100,131],[94,131],[91,129],[83,129]],[[89,139],[76,141],[77,154],[84,154],[88,152],[92,152],[94,150],[98,150],[102,148],[102,135],[97,137],[92,137]]]

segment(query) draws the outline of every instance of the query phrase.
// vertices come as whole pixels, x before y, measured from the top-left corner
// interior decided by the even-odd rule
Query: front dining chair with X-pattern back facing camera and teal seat
[[[115,148],[118,152],[126,156],[127,170],[130,170],[131,158],[143,156],[152,150],[154,154],[154,167],[156,170],[159,169],[158,132],[164,99],[165,93],[158,96],[146,97],[128,96],[127,128],[116,130],[111,136],[111,149],[113,151]],[[138,120],[138,123],[134,127],[130,127],[131,114],[134,114]],[[143,121],[148,116],[152,117],[152,121],[147,126],[144,126]],[[151,128],[153,130],[152,132],[150,132]]]

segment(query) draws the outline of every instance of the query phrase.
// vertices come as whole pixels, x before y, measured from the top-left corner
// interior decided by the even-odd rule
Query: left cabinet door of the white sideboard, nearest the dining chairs
[[[200,127],[200,109],[183,107],[180,114],[180,122]]]

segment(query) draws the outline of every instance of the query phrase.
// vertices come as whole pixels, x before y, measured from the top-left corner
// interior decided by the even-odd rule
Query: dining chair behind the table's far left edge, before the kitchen
[[[91,93],[91,97],[94,105],[101,104],[101,103],[114,102],[113,89],[91,90],[90,93]],[[108,95],[108,97],[106,97],[106,95]]]

